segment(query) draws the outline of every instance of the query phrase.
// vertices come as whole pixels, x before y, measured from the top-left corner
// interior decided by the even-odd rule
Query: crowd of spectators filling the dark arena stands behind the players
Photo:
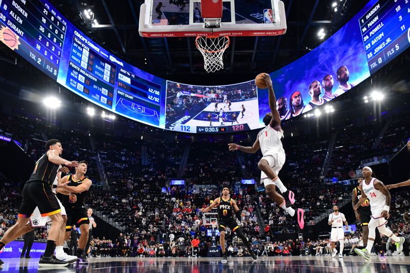
[[[294,230],[294,220],[286,216],[283,211],[264,194],[255,194],[250,187],[238,188],[234,184],[235,178],[248,175],[258,177],[258,154],[240,154],[229,152],[226,143],[192,143],[190,153],[183,170],[183,176],[189,176],[191,186],[169,185],[171,177],[177,177],[187,142],[161,143],[95,135],[87,133],[68,132],[46,126],[43,121],[33,121],[16,116],[2,116],[1,133],[18,139],[22,148],[34,160],[42,155],[44,137],[56,137],[70,146],[65,155],[70,159],[85,159],[95,162],[96,154],[101,156],[105,174],[109,181],[107,191],[92,190],[86,198],[87,206],[106,215],[125,227],[124,235],[116,240],[112,238],[94,238],[91,244],[93,256],[145,256],[145,257],[188,257],[206,256],[210,244],[207,229],[212,223],[203,222],[203,215],[199,209],[208,206],[220,192],[219,185],[232,185],[232,197],[237,200],[242,209],[241,228],[252,242],[252,247],[260,255],[328,255],[329,247],[326,241],[285,241],[274,240],[275,233],[291,233]],[[37,122],[37,123],[36,123]],[[12,126],[17,124],[17,126]],[[36,124],[37,128],[30,124]],[[396,123],[395,123],[396,124]],[[397,125],[397,124],[396,124]],[[23,130],[22,127],[26,127]],[[359,159],[356,153],[362,153],[373,144],[371,139],[380,130],[381,125],[373,129],[364,127],[362,131],[348,127],[337,132],[335,151],[331,160],[331,174],[340,179],[351,177],[350,170],[357,166]],[[27,130],[29,128],[29,130]],[[390,125],[386,134],[391,134],[395,126]],[[38,130],[38,131],[37,131]],[[39,133],[39,130],[42,130]],[[399,128],[396,134],[406,132]],[[364,133],[363,133],[364,132]],[[91,148],[94,139],[95,150]],[[280,172],[285,185],[295,192],[297,206],[305,209],[305,222],[313,224],[315,217],[320,217],[334,204],[350,199],[354,185],[335,185],[323,183],[322,168],[329,146],[329,136],[317,140],[315,137],[285,138],[283,145],[287,161]],[[352,142],[365,144],[353,145]],[[359,141],[360,140],[360,141]],[[383,147],[385,140],[381,141]],[[40,145],[41,144],[41,145]],[[353,146],[352,149],[338,150]],[[353,155],[352,155],[353,154]],[[347,161],[343,161],[346,158]],[[350,160],[350,161],[349,161]],[[345,164],[343,164],[345,163]],[[93,166],[96,170],[97,168]],[[245,169],[245,170],[244,170]],[[92,180],[98,180],[98,172],[89,173]],[[347,175],[347,176],[346,176]],[[15,182],[15,183],[14,183]],[[21,186],[24,181],[10,182],[1,177],[0,221],[1,232],[16,221],[16,212],[20,202]],[[202,186],[202,187],[192,187]],[[216,186],[212,186],[216,185]],[[6,190],[7,189],[7,190]],[[401,234],[410,233],[408,223],[409,192],[392,191],[392,219],[389,225]],[[260,220],[256,212],[260,213],[267,226],[259,226]],[[402,216],[404,215],[404,216]],[[403,220],[404,217],[404,220]],[[204,225],[206,224],[206,225]],[[264,236],[261,236],[262,229]],[[45,229],[36,232],[36,238],[44,240],[47,236]],[[228,232],[227,246],[233,256],[247,255],[240,239]],[[386,239],[386,238],[385,238]],[[192,247],[193,240],[199,244]],[[358,234],[347,238],[346,244],[360,245]],[[391,244],[391,242],[385,242]],[[298,254],[300,253],[300,254]]]

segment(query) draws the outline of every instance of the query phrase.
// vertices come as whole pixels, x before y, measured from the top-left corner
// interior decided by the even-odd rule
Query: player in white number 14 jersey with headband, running
[[[366,248],[357,249],[355,252],[363,257],[365,260],[370,261],[370,253],[375,241],[376,227],[379,232],[389,238],[392,238],[397,242],[397,254],[403,251],[404,237],[397,237],[394,235],[392,230],[386,227],[387,220],[390,216],[388,215],[390,209],[390,201],[392,197],[388,192],[387,188],[384,186],[383,182],[372,177],[371,167],[363,167],[362,174],[364,181],[359,185],[359,189],[362,193],[362,197],[359,199],[357,204],[354,206],[355,211],[358,207],[368,198],[370,201],[370,209],[372,211],[372,219],[368,223],[368,241]]]

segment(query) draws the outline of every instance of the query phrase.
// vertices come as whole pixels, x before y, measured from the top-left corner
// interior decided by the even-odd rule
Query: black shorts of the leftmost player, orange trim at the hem
[[[61,212],[57,197],[51,187],[42,182],[29,182],[23,187],[23,200],[18,210],[18,217],[29,218],[35,207],[42,216],[50,216]]]

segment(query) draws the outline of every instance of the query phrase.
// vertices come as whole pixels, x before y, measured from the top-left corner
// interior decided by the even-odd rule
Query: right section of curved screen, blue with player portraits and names
[[[375,73],[410,44],[410,1],[370,1],[319,47],[270,73],[281,119],[323,105]],[[270,112],[258,90],[260,125]]]

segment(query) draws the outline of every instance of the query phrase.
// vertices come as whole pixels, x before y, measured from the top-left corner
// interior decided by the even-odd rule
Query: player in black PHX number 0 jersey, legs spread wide
[[[224,186],[222,188],[221,197],[216,198],[210,206],[206,208],[201,208],[201,212],[207,213],[216,206],[218,206],[218,225],[219,225],[218,230],[220,233],[219,243],[221,245],[222,253],[223,253],[222,263],[226,263],[228,261],[228,251],[226,250],[226,247],[225,247],[225,232],[226,232],[227,227],[229,227],[232,230],[232,232],[236,233],[236,235],[242,240],[242,242],[248,248],[248,251],[252,257],[252,260],[256,261],[257,256],[252,251],[251,245],[249,244],[248,239],[243,235],[242,230],[240,229],[238,223],[233,218],[232,208],[235,209],[236,218],[238,218],[239,220],[240,220],[241,211],[238,205],[236,204],[236,201],[233,200],[229,196],[228,186]]]

